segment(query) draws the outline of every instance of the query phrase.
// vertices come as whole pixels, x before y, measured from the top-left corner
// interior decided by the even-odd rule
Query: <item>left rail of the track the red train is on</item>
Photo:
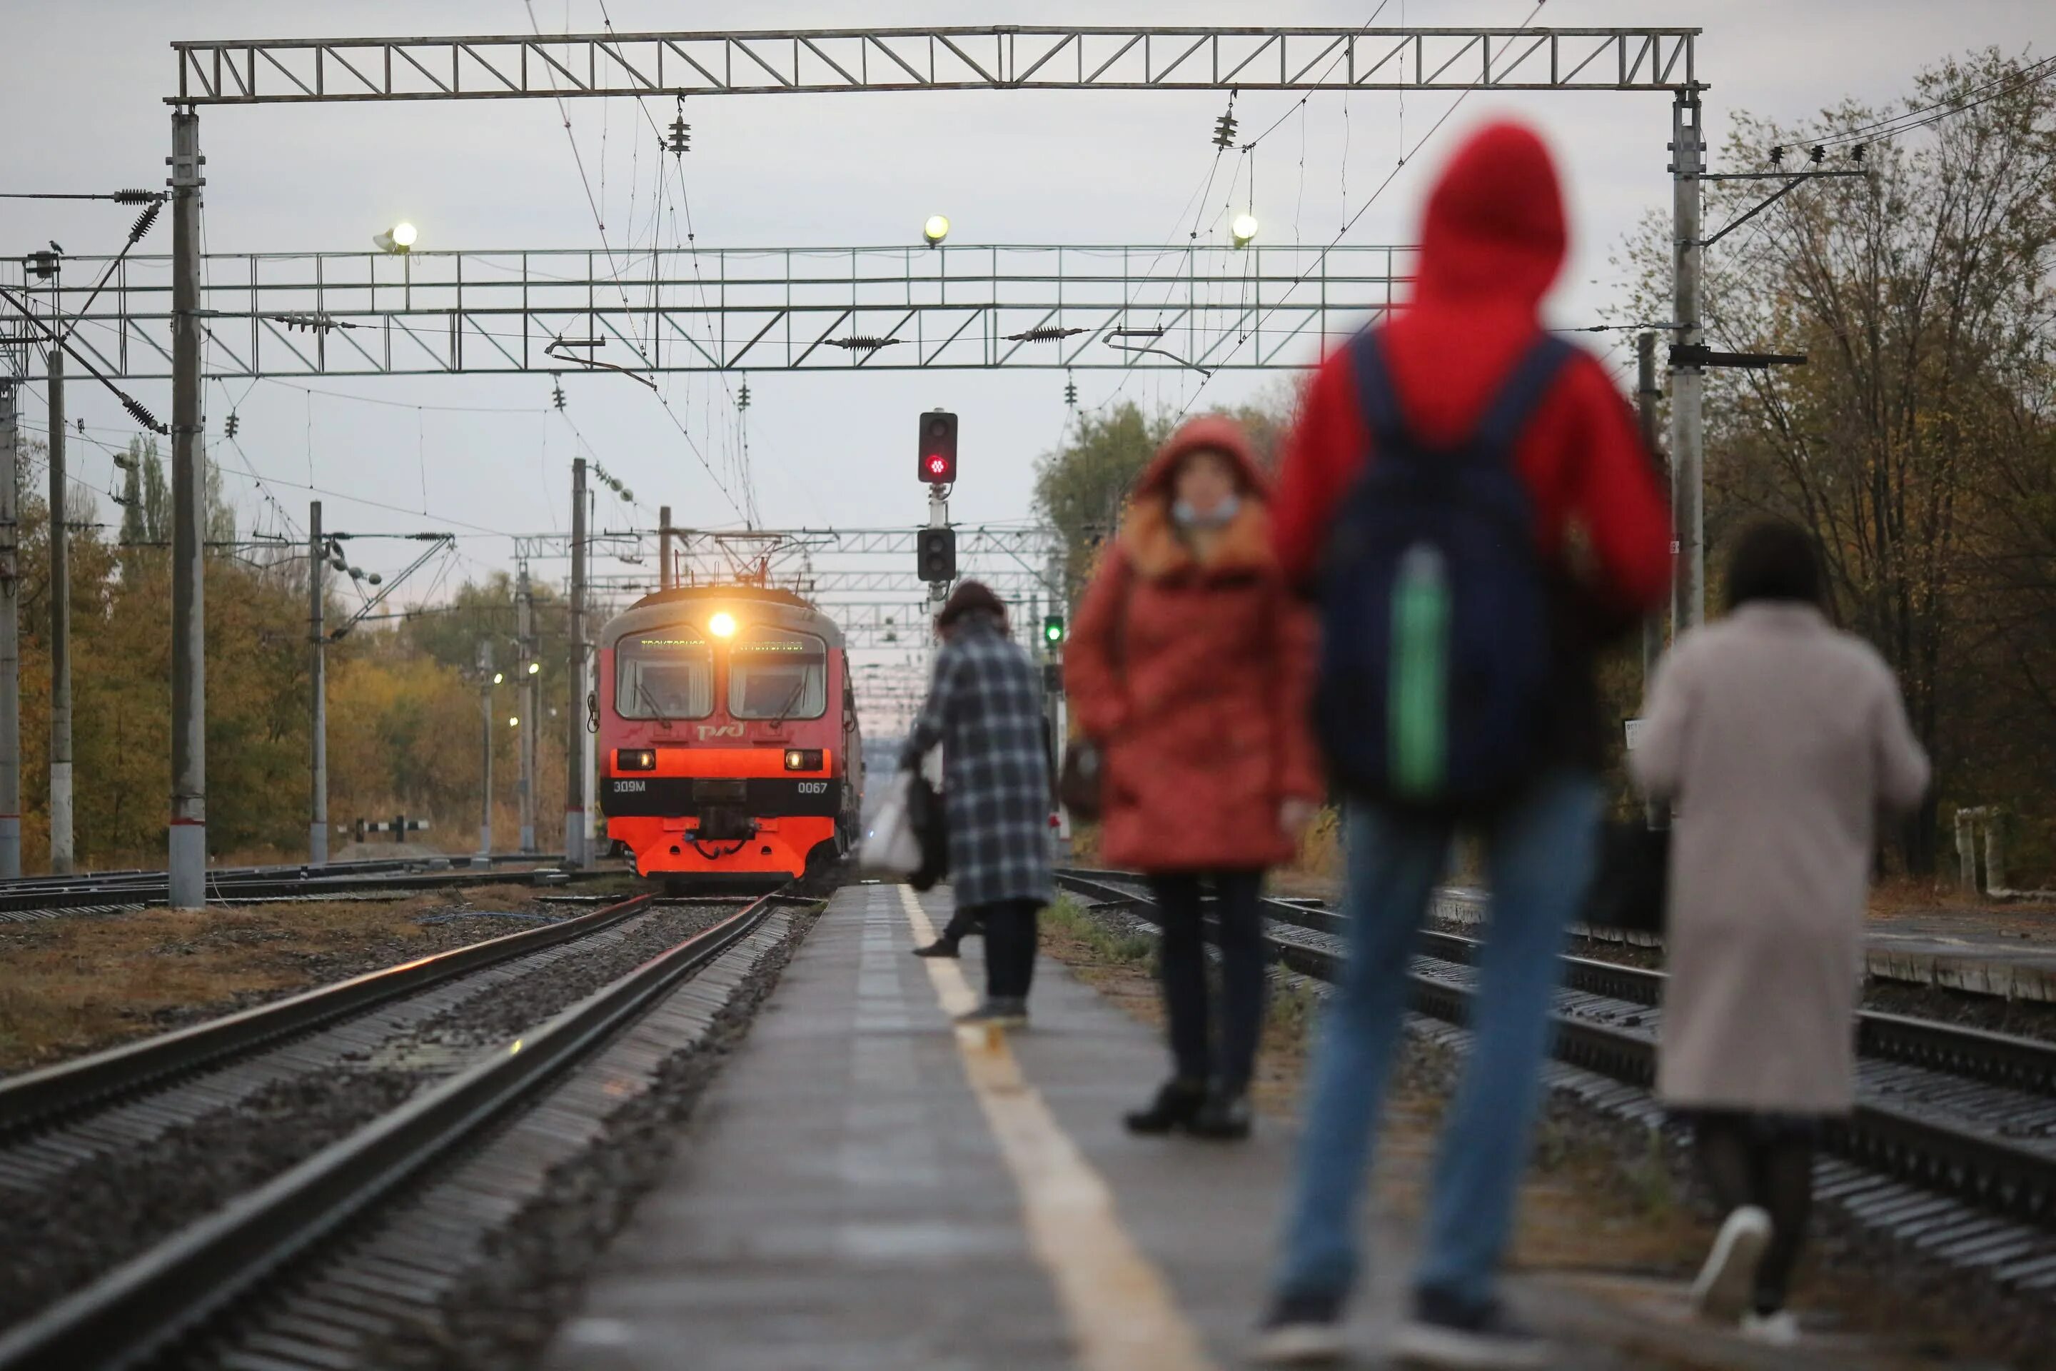
[[[654,896],[637,894],[619,904],[547,923],[467,948],[452,948],[415,962],[366,972],[304,991],[290,999],[257,1005],[191,1028],[27,1071],[0,1081],[0,1139],[62,1122],[103,1102],[162,1087],[204,1067],[226,1063],[282,1038],[362,1013],[401,995],[415,995],[440,980],[493,966],[508,958],[555,948],[641,913]]]

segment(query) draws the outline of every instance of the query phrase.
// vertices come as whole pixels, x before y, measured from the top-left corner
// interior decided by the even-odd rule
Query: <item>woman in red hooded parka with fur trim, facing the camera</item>
[[[1164,915],[1172,1079],[1135,1133],[1250,1131],[1264,1015],[1258,898],[1322,795],[1306,726],[1310,610],[1271,553],[1266,485],[1242,428],[1180,428],[1135,502],[1065,645],[1065,691],[1104,754],[1100,857],[1149,876]],[[1221,923],[1221,1040],[1207,1011],[1201,884]]]

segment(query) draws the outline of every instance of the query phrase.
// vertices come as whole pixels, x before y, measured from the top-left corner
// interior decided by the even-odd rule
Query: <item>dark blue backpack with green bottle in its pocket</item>
[[[1382,331],[1349,347],[1371,458],[1328,543],[1314,721],[1353,795],[1476,814],[1534,773],[1548,726],[1548,590],[1513,446],[1573,347],[1536,339],[1449,446],[1400,415]]]

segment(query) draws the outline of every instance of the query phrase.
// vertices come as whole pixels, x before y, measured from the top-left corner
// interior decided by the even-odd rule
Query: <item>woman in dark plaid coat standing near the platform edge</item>
[[[950,884],[958,917],[927,954],[985,925],[985,1003],[966,1022],[1028,1024],[1036,915],[1055,894],[1049,857],[1051,775],[1034,662],[1007,637],[1007,610],[964,582],[935,615],[942,652],[903,767],[942,744]]]

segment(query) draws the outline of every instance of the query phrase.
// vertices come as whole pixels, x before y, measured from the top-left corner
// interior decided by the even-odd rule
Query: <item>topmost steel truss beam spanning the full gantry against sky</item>
[[[1698,29],[783,29],[173,43],[167,105],[841,90],[1686,90]]]

